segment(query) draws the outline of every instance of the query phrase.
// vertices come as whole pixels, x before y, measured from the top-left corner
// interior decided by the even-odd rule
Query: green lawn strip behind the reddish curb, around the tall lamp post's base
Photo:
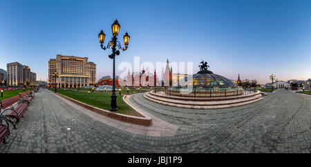
[[[55,89],[51,88],[50,90],[54,91]],[[102,108],[104,110],[110,110],[111,94],[99,92],[78,92],[76,90],[64,90],[61,88],[57,88],[57,92],[65,95],[66,97],[81,101],[82,103]],[[117,95],[117,113],[140,116],[138,112],[133,110],[133,108],[123,101],[122,97],[123,95]]]

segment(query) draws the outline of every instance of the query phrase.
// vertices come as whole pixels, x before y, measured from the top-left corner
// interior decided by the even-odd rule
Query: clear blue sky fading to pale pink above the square
[[[269,81],[311,77],[311,1],[1,1],[0,68],[19,61],[47,79],[57,54],[88,57],[97,79],[111,75],[111,37],[129,32],[129,49],[116,62],[205,60],[214,73]],[[122,39],[122,38],[121,38]],[[122,42],[123,43],[123,42]],[[118,72],[117,72],[118,73]]]

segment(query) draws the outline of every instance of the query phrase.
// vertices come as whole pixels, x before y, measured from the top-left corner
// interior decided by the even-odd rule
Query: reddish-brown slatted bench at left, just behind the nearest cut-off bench
[[[13,107],[13,104],[16,102],[17,106]],[[15,97],[2,100],[0,104],[3,109],[1,115],[8,118],[7,120],[14,126],[14,129],[16,129],[16,125],[29,106],[28,101],[20,99],[19,95],[16,95]]]

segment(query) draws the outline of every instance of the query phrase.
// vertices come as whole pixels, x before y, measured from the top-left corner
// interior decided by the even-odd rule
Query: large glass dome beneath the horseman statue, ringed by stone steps
[[[182,88],[187,86],[193,86],[193,88],[237,88],[235,83],[230,81],[229,79],[221,76],[213,74],[212,72],[199,73],[196,75],[192,75],[192,79],[188,77],[188,79],[182,80],[179,83],[174,85],[177,88]]]

